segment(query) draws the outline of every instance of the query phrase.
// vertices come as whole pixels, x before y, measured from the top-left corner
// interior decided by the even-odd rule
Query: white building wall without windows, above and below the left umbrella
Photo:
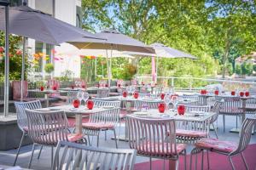
[[[28,6],[31,8],[35,8],[38,10],[43,11],[46,14],[52,14],[55,12],[55,18],[58,20],[62,20],[64,22],[67,22],[68,24],[71,24],[73,26],[79,26],[77,23],[77,13],[78,8],[81,7],[81,1],[80,0],[55,0],[55,10],[53,8],[53,0],[28,0]],[[60,44],[61,45],[61,44]],[[36,42],[35,40],[28,39],[27,47],[29,47],[28,53],[32,56],[32,54],[35,54],[38,49],[37,47],[40,47],[40,42]],[[65,48],[73,48],[72,45],[65,45]],[[43,48],[41,50],[42,53],[49,54],[49,45],[43,44]],[[58,50],[58,47],[55,46],[55,50]],[[58,51],[56,54],[59,54]],[[62,73],[65,71],[72,71],[74,77],[80,77],[80,59],[79,56],[67,56],[65,54],[63,55],[56,55],[54,54],[54,58],[51,59],[54,62],[55,65],[55,77],[61,77]],[[49,56],[53,56],[53,54],[49,54]],[[31,57],[32,58],[32,57]],[[32,77],[38,77],[40,79],[41,77],[46,77],[47,73],[44,72],[44,65],[48,61],[42,60],[42,66],[40,69],[38,69],[35,72],[32,72]]]

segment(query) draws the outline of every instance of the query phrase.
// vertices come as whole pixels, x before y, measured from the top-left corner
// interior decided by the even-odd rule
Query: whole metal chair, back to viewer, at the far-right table
[[[220,98],[220,99],[218,99]],[[241,99],[240,97],[228,97],[222,96],[217,97],[218,100],[224,101],[224,106],[219,111],[220,115],[223,115],[223,125],[224,125],[224,132],[225,132],[225,116],[236,116],[236,128],[238,127],[238,120],[237,116],[241,116],[242,109],[241,109]]]

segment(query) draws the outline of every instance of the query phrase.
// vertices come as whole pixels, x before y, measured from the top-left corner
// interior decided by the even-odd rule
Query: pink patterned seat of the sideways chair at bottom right
[[[195,143],[195,147],[202,148],[206,150],[230,153],[237,148],[237,144],[235,142],[230,141],[222,141],[218,139],[200,139],[197,143]]]

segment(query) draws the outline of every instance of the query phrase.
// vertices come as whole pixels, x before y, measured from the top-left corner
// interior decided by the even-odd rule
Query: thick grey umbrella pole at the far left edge
[[[9,6],[5,6],[4,111],[9,113]]]

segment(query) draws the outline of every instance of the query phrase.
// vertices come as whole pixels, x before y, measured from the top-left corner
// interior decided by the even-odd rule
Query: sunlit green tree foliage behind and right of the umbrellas
[[[161,42],[198,58],[159,59],[159,76],[232,74],[235,59],[256,48],[254,1],[83,0],[82,7],[84,28],[90,31],[115,28],[147,44]],[[137,58],[135,64],[137,74],[150,74],[151,58]]]

